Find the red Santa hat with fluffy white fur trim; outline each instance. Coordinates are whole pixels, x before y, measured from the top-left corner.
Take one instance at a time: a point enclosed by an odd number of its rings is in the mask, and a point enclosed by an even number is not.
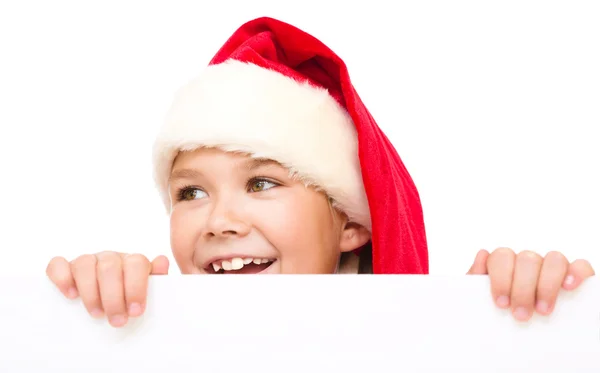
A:
[[[250,21],[178,92],[153,155],[167,210],[173,160],[199,147],[273,159],[319,186],[371,232],[373,273],[428,273],[413,180],[344,62],[313,36],[272,18]]]

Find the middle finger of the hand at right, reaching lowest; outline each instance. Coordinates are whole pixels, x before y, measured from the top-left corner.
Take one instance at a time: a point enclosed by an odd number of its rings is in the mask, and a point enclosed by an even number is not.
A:
[[[532,251],[523,251],[517,255],[510,299],[517,320],[527,321],[533,314],[543,261],[539,254]]]

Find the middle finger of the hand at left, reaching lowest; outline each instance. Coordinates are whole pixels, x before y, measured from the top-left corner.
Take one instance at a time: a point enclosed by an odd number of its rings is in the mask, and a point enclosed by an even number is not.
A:
[[[117,253],[97,254],[98,286],[102,307],[109,323],[121,327],[127,323],[127,306],[123,284],[123,261]]]

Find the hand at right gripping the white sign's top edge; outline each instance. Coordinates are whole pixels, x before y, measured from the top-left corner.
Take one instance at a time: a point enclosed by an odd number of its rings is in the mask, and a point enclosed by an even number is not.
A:
[[[498,307],[511,308],[517,320],[527,321],[534,311],[551,314],[561,287],[573,290],[595,273],[587,260],[569,263],[556,251],[542,257],[532,251],[516,254],[499,248],[492,253],[479,251],[467,274],[489,275]]]

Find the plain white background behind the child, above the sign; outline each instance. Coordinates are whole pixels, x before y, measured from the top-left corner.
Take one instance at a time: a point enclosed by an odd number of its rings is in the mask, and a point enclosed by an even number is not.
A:
[[[420,190],[432,274],[497,246],[600,266],[596,1],[6,1],[0,272],[169,254],[155,132],[176,89],[263,15],[347,62]]]

